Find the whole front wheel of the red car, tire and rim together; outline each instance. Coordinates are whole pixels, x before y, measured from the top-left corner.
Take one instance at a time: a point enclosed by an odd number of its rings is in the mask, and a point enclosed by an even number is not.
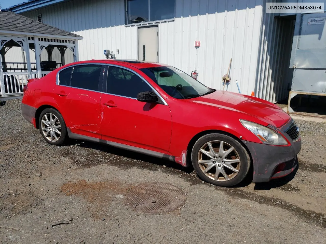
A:
[[[242,182],[250,168],[249,154],[241,143],[219,133],[200,137],[192,148],[191,161],[200,179],[225,187]]]

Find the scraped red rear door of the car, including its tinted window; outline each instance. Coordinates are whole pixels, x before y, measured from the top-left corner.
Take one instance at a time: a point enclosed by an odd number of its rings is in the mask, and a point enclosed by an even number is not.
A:
[[[67,127],[73,133],[101,137],[100,99],[104,65],[82,64],[58,74],[54,99]]]

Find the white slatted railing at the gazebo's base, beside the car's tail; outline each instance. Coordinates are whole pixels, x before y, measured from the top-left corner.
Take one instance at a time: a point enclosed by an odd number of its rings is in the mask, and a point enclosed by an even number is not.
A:
[[[3,73],[4,88],[2,95],[23,94],[23,88],[27,85],[28,72],[6,72]]]

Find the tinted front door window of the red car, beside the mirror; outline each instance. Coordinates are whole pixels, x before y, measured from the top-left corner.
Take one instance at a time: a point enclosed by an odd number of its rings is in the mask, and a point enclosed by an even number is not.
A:
[[[109,67],[107,93],[137,98],[137,94],[143,91],[152,91],[152,88],[141,77],[123,68]]]

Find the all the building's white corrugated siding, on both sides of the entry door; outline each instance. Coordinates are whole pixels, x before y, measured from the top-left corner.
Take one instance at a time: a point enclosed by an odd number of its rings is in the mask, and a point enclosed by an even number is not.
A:
[[[159,61],[188,74],[197,69],[201,82],[222,89],[221,79],[232,57],[232,81],[227,89],[238,92],[238,80],[242,93],[251,94],[256,87],[256,96],[274,102],[275,90],[283,89],[277,81],[284,77],[284,69],[274,74],[281,60],[271,56],[274,49],[269,44],[277,43],[275,52],[280,53],[284,42],[278,42],[275,34],[287,27],[275,28],[279,24],[263,15],[265,2],[176,0],[175,20],[158,23]],[[124,0],[74,0],[24,15],[36,19],[39,13],[43,22],[84,37],[78,42],[79,60],[103,59],[103,49],[114,51],[116,58],[138,58],[137,26],[124,25]],[[196,40],[200,41],[197,49]]]

